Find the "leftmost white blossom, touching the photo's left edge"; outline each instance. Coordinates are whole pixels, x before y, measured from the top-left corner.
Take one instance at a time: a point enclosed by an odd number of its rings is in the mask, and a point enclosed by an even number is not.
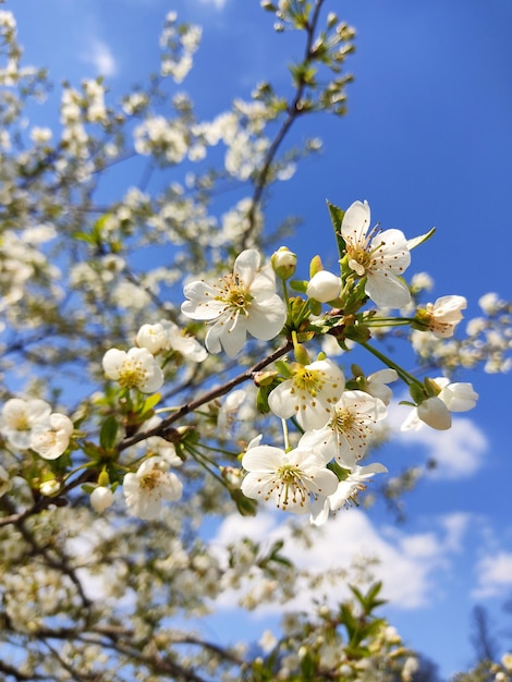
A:
[[[27,450],[31,448],[32,429],[39,423],[46,423],[51,407],[44,400],[22,400],[11,398],[2,407],[0,431],[11,446]]]

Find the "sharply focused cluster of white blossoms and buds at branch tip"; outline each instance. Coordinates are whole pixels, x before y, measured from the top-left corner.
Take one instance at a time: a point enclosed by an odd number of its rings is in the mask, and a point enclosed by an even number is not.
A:
[[[411,292],[403,272],[411,263],[411,248],[430,234],[406,240],[399,230],[370,228],[370,210],[366,202],[355,202],[343,214],[330,207],[334,227],[340,226],[340,271],[325,270],[321,260],[312,260],[310,279],[291,282],[305,299],[283,302],[276,293],[276,276],[283,284],[295,272],[295,254],[281,247],[269,266],[260,268],[255,249],[243,252],[235,260],[233,275],[224,276],[215,285],[194,281],[185,285],[187,301],[182,312],[187,317],[211,326],[206,348],[231,357],[242,350],[246,334],[270,340],[283,331],[292,343],[295,362],[279,363],[279,372],[269,376],[266,389],[268,409],[283,425],[291,421],[298,430],[298,442],[290,446],[284,428],[284,449],[249,443],[242,458],[246,472],[241,490],[247,498],[272,500],[282,510],[309,513],[315,525],[324,523],[329,511],[354,502],[374,474],[386,472],[383,464],[362,465],[369,446],[387,417],[392,393],[389,382],[402,379],[413,398],[413,407],[403,429],[427,424],[446,429],[451,413],[471,410],[477,394],[470,383],[450,383],[446,378],[426,378],[423,382],[368,343],[371,329],[386,324],[409,324],[412,328],[446,339],[454,333],[466,307],[462,296],[443,296],[434,304],[418,308],[414,317],[380,317],[367,310],[368,299],[380,307],[403,308]],[[341,218],[341,219],[340,219]],[[331,313],[321,315],[328,304]],[[284,326],[285,324],[285,326]],[[284,326],[284,327],[283,327]],[[321,354],[312,362],[300,333],[309,339],[326,332],[340,345],[359,343],[388,365],[365,376],[357,368],[346,379],[343,370]],[[261,380],[261,378],[258,378]]]

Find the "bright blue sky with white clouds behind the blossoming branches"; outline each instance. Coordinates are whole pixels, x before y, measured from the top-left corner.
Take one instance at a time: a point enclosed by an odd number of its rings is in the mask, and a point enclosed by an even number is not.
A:
[[[16,15],[26,61],[49,68],[56,94],[62,80],[77,85],[100,72],[113,94],[143,80],[157,69],[158,35],[170,10],[204,26],[196,68],[182,87],[205,118],[234,96],[248,97],[263,78],[288,88],[285,64],[300,54],[294,36],[273,34],[257,0],[8,0],[4,7]],[[488,291],[512,299],[510,0],[332,0],[328,8],[358,34],[349,115],[298,124],[296,142],[319,135],[325,148],[292,182],[272,190],[270,223],[302,216],[288,244],[305,259],[319,253],[328,261],[326,198],[340,206],[366,198],[383,228],[415,236],[436,226],[410,269],[434,277],[434,297],[466,296],[467,317],[478,314],[477,300]],[[45,110],[34,124],[57,120]],[[422,431],[379,458],[391,471],[429,454],[441,461],[407,499],[406,523],[395,526],[381,509],[339,514],[317,553],[298,559],[343,563],[365,537],[382,557],[392,622],[444,674],[471,660],[474,604],[489,607],[498,623],[512,594],[510,376],[460,378],[480,394],[472,413],[448,434]],[[285,533],[272,517],[258,519],[247,522],[255,537]],[[227,520],[216,540],[232,523]]]

